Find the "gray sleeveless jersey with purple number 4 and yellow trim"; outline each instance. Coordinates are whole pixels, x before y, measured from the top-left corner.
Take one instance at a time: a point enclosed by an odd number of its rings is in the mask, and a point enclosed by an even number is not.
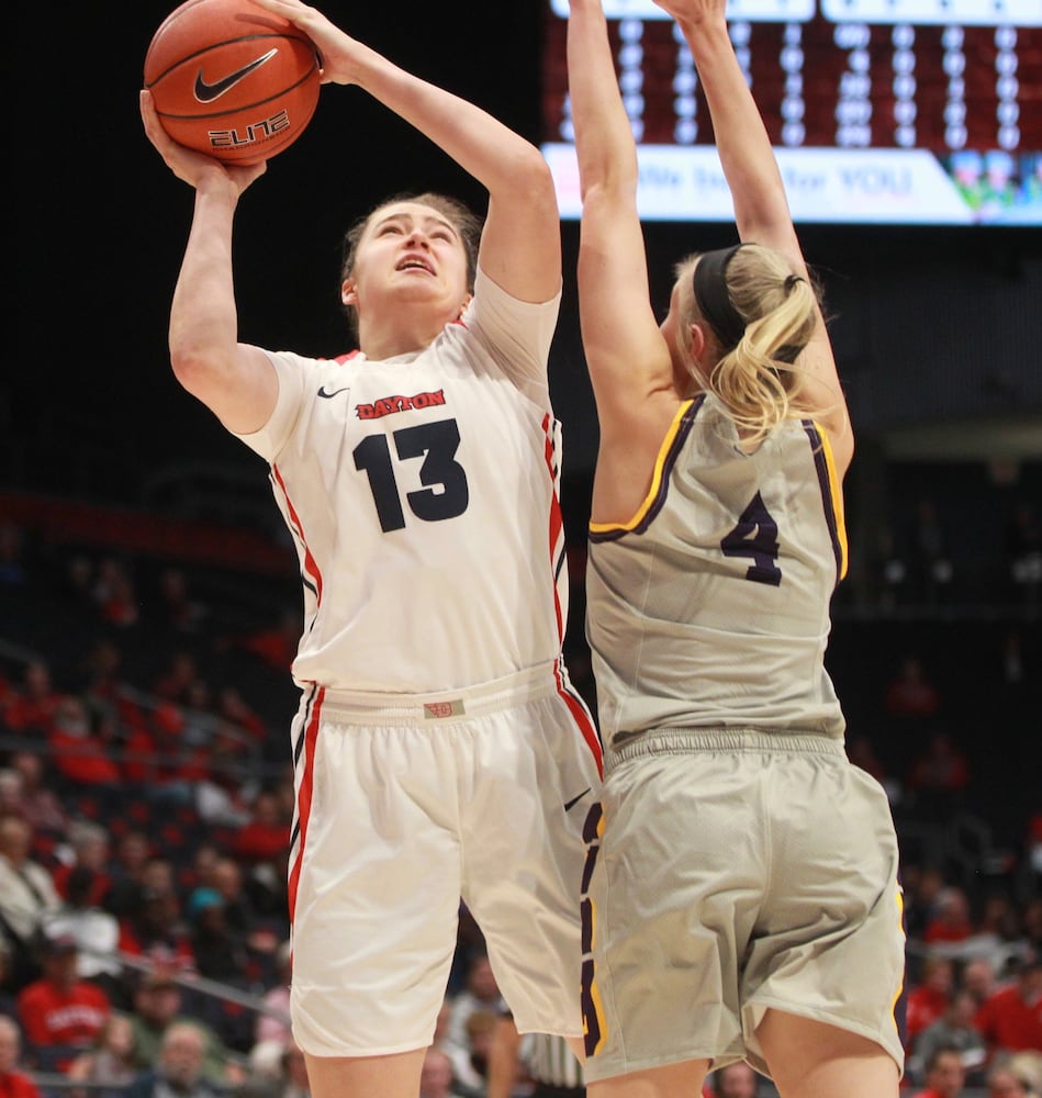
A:
[[[719,401],[683,404],[637,515],[590,526],[586,630],[606,753],[660,728],[842,739],[825,650],[845,567],[825,432],[794,419],[750,455]]]

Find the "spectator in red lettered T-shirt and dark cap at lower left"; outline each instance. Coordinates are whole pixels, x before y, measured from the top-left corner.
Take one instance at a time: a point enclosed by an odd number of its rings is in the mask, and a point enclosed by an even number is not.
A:
[[[112,1012],[108,995],[77,975],[78,954],[76,939],[69,934],[45,939],[43,978],[18,997],[26,1042],[42,1064],[59,1072],[77,1050],[93,1044]]]

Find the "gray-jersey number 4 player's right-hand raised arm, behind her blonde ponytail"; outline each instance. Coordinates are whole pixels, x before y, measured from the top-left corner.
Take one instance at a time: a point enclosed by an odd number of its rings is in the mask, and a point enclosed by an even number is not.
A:
[[[725,0],[656,3],[676,20],[691,48],[735,203],[739,236],[743,242],[774,248],[795,273],[808,278],[771,139],[728,35]],[[804,396],[818,410],[839,468],[845,471],[853,456],[853,435],[820,310],[799,368],[808,376]]]

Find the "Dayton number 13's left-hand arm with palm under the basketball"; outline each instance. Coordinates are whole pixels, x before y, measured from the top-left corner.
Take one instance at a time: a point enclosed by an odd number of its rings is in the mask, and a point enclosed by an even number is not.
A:
[[[243,191],[264,164],[225,167],[178,145],[163,130],[147,91],[141,93],[145,133],[170,170],[195,189],[195,211],[170,309],[170,361],[180,383],[226,427],[262,427],[278,381],[262,351],[238,343],[232,278],[232,222]]]

